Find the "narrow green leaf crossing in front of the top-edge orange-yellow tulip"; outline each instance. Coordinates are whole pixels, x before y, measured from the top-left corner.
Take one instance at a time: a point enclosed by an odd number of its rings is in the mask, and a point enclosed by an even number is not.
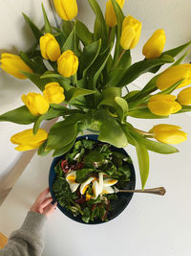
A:
[[[112,0],[112,4],[114,6],[114,10],[115,10],[116,16],[117,16],[117,43],[116,43],[116,50],[115,50],[115,56],[114,56],[114,65],[115,65],[117,62],[119,53],[122,50],[122,48],[120,46],[120,35],[121,35],[121,31],[122,31],[122,22],[123,22],[123,19],[125,18],[125,16],[124,16],[121,8],[117,4],[116,0]]]

